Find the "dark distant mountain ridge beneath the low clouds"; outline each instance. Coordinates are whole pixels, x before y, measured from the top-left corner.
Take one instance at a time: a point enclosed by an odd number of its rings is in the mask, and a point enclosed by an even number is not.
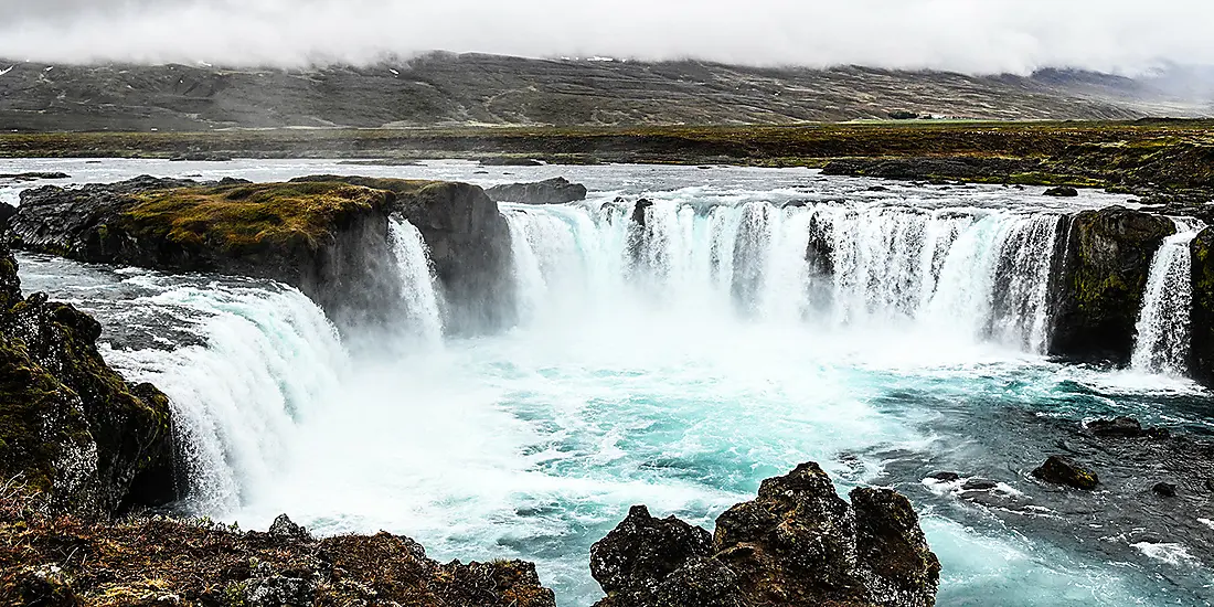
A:
[[[7,70],[7,72],[5,72]],[[432,53],[304,70],[0,61],[0,130],[721,125],[1198,117],[1147,80]]]

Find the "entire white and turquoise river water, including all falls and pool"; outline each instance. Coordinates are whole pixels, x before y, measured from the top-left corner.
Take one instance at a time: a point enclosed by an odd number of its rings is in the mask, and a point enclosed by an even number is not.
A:
[[[1133,369],[1043,356],[1061,217],[1124,199],[873,192],[809,170],[10,165],[75,181],[565,175],[591,188],[582,204],[501,205],[521,318],[497,335],[442,336],[425,244],[395,221],[408,330],[376,336],[401,341],[379,356],[347,351],[314,305],[272,283],[21,256],[27,289],[96,313],[107,359],[172,398],[185,511],[387,529],[437,558],[518,556],[561,605],[588,606],[589,548],[630,505],[711,528],[761,480],[815,460],[841,489],[910,497],[944,567],[938,605],[1208,605],[1214,563],[1168,557],[1186,538],[1087,541],[1042,522],[1085,512],[1015,499],[1053,448],[1040,420],[1131,414],[1214,433],[1209,396],[1169,367],[1187,331],[1174,287],[1190,229],[1156,259]],[[643,228],[613,202],[641,195],[654,202]],[[1008,500],[959,500],[926,480],[941,470],[999,481]]]

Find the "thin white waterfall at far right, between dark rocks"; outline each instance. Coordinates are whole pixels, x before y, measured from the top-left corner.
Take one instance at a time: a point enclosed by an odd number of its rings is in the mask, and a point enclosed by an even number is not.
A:
[[[1195,220],[1173,220],[1176,234],[1168,237],[1151,262],[1138,337],[1130,364],[1147,373],[1184,375],[1189,369],[1192,257],[1190,244],[1202,228]]]

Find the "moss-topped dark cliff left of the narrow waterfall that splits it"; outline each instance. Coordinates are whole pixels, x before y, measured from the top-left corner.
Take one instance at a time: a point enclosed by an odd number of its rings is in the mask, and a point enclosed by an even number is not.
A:
[[[339,327],[385,308],[398,288],[390,193],[346,183],[138,177],[22,194],[8,238],[87,262],[270,278],[296,287]]]

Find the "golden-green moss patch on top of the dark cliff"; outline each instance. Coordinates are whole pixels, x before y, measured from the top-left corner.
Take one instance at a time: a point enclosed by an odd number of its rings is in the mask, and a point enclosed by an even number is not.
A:
[[[384,192],[348,183],[259,183],[137,195],[123,215],[131,233],[186,248],[239,254],[260,246],[316,249],[335,225],[384,204]]]

